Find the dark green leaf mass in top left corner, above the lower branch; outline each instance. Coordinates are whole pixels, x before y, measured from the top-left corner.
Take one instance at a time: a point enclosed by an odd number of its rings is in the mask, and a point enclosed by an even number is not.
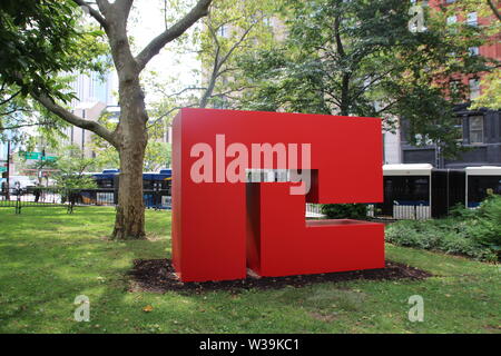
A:
[[[79,26],[81,11],[72,1],[2,0],[0,6],[0,79],[21,95],[73,98],[57,80],[60,71],[102,68],[96,56],[106,46],[104,32]]]

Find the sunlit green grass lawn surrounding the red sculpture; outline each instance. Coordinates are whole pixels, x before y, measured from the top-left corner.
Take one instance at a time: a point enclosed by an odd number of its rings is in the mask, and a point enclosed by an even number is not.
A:
[[[128,293],[135,258],[170,257],[170,214],[147,211],[148,240],[106,240],[114,209],[0,209],[0,333],[501,333],[499,266],[389,245],[422,281],[183,295]],[[73,320],[78,295],[90,322]],[[407,319],[424,298],[424,322]],[[151,305],[153,312],[145,313]]]

